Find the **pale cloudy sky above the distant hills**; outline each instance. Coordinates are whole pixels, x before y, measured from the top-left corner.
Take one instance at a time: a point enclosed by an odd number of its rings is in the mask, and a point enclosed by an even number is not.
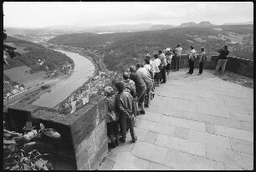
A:
[[[115,24],[253,21],[252,2],[4,2],[3,26],[45,28]]]

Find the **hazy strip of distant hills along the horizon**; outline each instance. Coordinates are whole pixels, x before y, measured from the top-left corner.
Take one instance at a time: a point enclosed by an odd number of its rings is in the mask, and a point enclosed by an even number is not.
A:
[[[253,21],[247,23],[225,23],[223,25],[214,25],[209,21],[203,21],[201,23],[182,23],[179,26],[173,26],[171,24],[119,24],[112,26],[98,26],[98,27],[74,27],[74,26],[55,26],[47,28],[10,28],[4,27],[8,34],[39,34],[39,33],[121,33],[121,32],[138,32],[138,31],[155,31],[155,30],[167,30],[171,28],[188,28],[188,27],[212,27],[212,26],[224,26],[224,25],[248,25],[253,24]]]

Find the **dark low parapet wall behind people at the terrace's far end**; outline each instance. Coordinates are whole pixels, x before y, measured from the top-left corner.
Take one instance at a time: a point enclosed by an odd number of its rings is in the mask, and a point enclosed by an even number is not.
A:
[[[212,55],[211,58],[208,58],[204,63],[203,68],[215,69],[218,63],[218,56]],[[198,60],[194,63],[195,68],[199,68]],[[173,63],[172,63],[173,68]],[[180,68],[189,68],[188,65],[188,54],[182,54],[180,60]],[[253,60],[248,60],[244,58],[234,58],[228,57],[228,62],[226,64],[226,70],[238,73],[246,77],[253,78]]]

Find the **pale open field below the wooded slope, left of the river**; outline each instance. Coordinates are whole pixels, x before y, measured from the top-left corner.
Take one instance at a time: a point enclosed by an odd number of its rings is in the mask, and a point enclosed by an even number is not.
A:
[[[37,84],[42,83],[44,79],[45,72],[38,72],[29,74],[26,71],[29,71],[31,68],[26,66],[20,66],[15,68],[9,68],[4,70],[3,73],[6,74],[12,81],[15,81],[20,84],[24,84],[25,88],[34,87]]]

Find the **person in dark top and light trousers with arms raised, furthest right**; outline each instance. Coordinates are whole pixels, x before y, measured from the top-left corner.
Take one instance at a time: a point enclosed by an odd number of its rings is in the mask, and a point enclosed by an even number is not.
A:
[[[218,50],[218,53],[219,53],[219,55],[218,55],[218,64],[215,68],[214,73],[212,73],[212,74],[215,74],[215,75],[218,72],[218,69],[220,67],[222,67],[222,70],[221,70],[220,74],[223,74],[224,71],[225,71],[226,63],[228,62],[228,57],[227,57],[228,53],[229,53],[228,45],[224,45],[223,48],[220,48]]]

